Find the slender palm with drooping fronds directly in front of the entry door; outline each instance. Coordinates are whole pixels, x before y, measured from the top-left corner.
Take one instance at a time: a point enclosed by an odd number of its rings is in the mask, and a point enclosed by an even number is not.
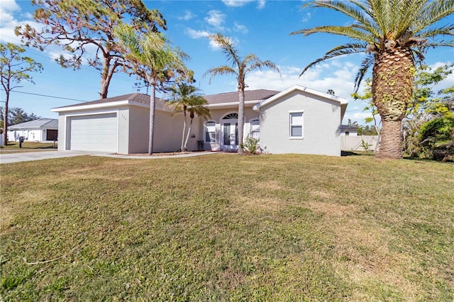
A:
[[[231,38],[224,37],[220,33],[216,33],[214,35],[210,35],[209,38],[214,40],[221,47],[222,52],[226,55],[227,61],[231,62],[232,66],[223,65],[221,67],[215,67],[209,69],[205,72],[206,74],[211,74],[211,78],[216,75],[223,75],[223,74],[234,74],[236,76],[238,82],[238,97],[239,97],[239,104],[238,104],[238,142],[243,142],[243,127],[244,127],[244,89],[246,86],[245,84],[245,77],[248,72],[252,72],[253,70],[262,70],[262,68],[270,68],[274,69],[279,72],[279,69],[275,65],[275,63],[266,60],[260,60],[256,55],[249,54],[246,55],[244,58],[238,55],[238,50],[233,45],[233,41]],[[280,74],[280,72],[279,72]],[[241,145],[238,145],[238,154],[243,154],[243,148]]]

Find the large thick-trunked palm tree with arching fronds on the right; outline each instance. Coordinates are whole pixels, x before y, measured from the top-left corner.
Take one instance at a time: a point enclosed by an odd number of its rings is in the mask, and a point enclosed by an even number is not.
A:
[[[355,78],[355,91],[372,67],[372,101],[382,117],[382,142],[377,158],[402,158],[402,118],[413,99],[415,64],[423,60],[428,47],[454,46],[452,40],[439,40],[453,35],[454,25],[436,26],[454,13],[453,0],[348,0],[311,1],[303,7],[328,8],[353,18],[349,26],[317,26],[298,30],[292,35],[332,33],[353,39],[334,47],[310,67],[341,55],[365,52]],[[301,76],[300,74],[300,76]]]

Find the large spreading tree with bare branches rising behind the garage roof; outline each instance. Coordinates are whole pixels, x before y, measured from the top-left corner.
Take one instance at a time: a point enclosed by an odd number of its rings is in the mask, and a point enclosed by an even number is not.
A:
[[[149,10],[141,0],[32,0],[37,6],[33,18],[42,29],[28,24],[18,26],[16,35],[26,45],[44,50],[59,45],[69,56],[56,59],[62,67],[80,69],[83,63],[101,72],[99,98],[105,99],[115,72],[131,72],[125,60],[126,51],[118,43],[114,29],[123,22],[143,35],[167,29],[165,19],[157,10]],[[94,57],[89,50],[95,49]],[[85,60],[85,61],[84,61]]]

